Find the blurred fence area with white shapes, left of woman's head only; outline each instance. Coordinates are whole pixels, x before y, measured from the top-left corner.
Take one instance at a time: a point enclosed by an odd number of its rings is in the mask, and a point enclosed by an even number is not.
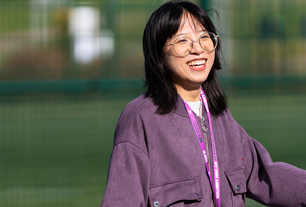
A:
[[[160,1],[0,1],[0,78],[141,75],[141,33]]]

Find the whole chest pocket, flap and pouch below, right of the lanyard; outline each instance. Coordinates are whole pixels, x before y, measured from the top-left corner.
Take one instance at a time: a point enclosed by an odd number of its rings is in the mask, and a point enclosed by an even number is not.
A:
[[[232,188],[232,206],[244,206],[246,193],[246,178],[244,166],[225,171],[225,176]]]

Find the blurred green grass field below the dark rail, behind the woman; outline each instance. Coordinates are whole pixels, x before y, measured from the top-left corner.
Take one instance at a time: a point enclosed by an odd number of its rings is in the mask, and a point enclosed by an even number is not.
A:
[[[99,206],[115,124],[138,94],[2,97],[0,206]],[[230,95],[232,115],[272,159],[304,169],[305,106],[305,90]]]

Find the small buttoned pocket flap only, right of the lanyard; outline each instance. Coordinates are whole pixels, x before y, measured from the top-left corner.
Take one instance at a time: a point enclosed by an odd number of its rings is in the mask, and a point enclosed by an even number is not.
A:
[[[234,194],[242,194],[246,192],[246,179],[243,171],[244,166],[224,172]]]

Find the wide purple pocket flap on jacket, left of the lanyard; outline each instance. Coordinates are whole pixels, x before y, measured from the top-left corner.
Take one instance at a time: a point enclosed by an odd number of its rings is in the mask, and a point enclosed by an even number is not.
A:
[[[149,188],[149,203],[154,207],[166,207],[183,200],[200,203],[203,197],[200,177],[174,180]]]

